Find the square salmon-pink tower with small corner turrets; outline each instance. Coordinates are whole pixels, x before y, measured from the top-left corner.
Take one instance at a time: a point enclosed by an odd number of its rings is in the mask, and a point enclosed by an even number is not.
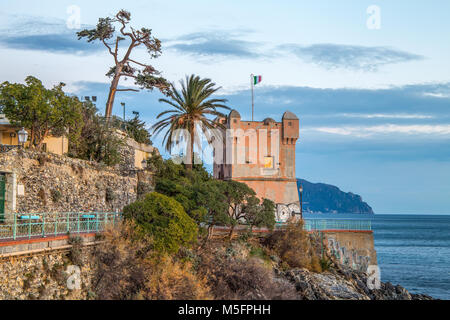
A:
[[[281,122],[242,120],[239,112],[216,119],[222,124],[222,143],[214,143],[214,177],[243,182],[259,198],[277,205],[277,220],[300,213],[295,174],[299,119],[284,113]]]

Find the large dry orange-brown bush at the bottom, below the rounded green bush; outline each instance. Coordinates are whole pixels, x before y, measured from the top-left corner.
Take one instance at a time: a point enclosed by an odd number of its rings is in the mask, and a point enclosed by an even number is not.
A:
[[[127,222],[104,233],[93,253],[94,296],[100,300],[204,300],[209,288],[189,263],[155,254],[153,241]]]

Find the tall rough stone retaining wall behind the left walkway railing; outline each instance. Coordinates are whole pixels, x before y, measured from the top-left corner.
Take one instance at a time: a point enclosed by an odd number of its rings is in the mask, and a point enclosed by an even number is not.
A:
[[[132,166],[124,161],[111,168],[28,150],[0,154],[6,217],[12,212],[121,211],[136,200],[139,184],[151,184],[151,174],[134,170],[134,157],[130,161]]]

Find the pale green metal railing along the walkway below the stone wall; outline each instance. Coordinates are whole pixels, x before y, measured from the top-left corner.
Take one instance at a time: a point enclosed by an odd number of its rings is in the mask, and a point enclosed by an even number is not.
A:
[[[0,241],[102,232],[122,219],[121,213],[16,213],[0,224]]]

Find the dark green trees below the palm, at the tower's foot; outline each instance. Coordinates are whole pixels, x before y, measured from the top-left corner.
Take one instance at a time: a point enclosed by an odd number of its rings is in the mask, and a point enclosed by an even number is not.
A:
[[[230,238],[240,221],[250,228],[275,225],[275,204],[260,201],[244,183],[215,180],[201,165],[190,170],[156,153],[149,159],[149,169],[154,172],[155,191],[177,200],[199,225],[206,223],[208,239],[215,225],[231,227]]]

